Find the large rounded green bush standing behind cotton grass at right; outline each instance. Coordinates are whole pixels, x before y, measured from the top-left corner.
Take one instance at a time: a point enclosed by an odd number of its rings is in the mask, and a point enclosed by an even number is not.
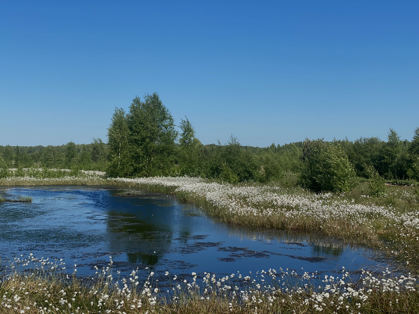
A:
[[[341,144],[306,139],[298,183],[316,192],[348,192],[357,185],[357,179]]]

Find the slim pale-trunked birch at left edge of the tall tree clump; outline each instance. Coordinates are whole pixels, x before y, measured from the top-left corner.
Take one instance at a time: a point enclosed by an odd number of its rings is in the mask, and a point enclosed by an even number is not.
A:
[[[131,174],[129,152],[129,129],[127,117],[122,108],[115,112],[108,128],[109,162],[106,172],[113,177],[125,177]]]

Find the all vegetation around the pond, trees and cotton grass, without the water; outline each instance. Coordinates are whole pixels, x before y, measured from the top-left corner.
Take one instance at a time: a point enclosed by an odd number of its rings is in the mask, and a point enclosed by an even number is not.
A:
[[[94,185],[166,193],[196,204],[218,223],[313,232],[378,250],[391,265],[382,272],[342,268],[332,278],[269,269],[257,278],[192,272],[176,281],[171,273],[171,283],[160,286],[151,270],[142,282],[135,269],[124,278],[110,273],[119,271],[114,261],[83,281],[75,270],[56,273],[56,260],[31,255],[4,266],[6,313],[419,311],[419,128],[411,141],[390,129],[386,142],[305,139],[259,148],[231,136],[226,144],[202,145],[187,118],[176,130],[153,94],[134,98],[128,113],[116,108],[106,144],[95,139],[87,145],[6,146],[0,153],[5,187]],[[17,265],[31,265],[31,271]]]

